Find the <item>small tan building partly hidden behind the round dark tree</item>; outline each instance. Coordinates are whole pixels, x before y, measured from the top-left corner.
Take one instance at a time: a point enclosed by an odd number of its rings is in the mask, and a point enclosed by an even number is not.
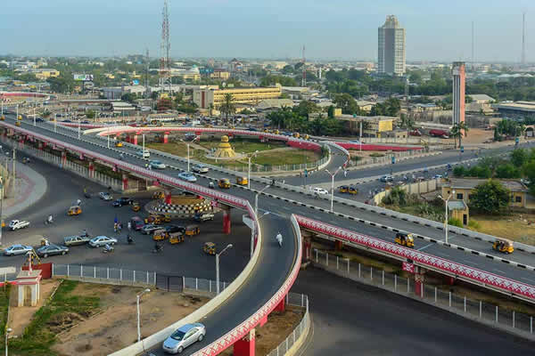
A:
[[[504,180],[498,181],[510,191],[510,206],[526,207],[528,189],[523,185],[522,182]],[[463,200],[466,204],[469,204],[475,187],[484,182],[487,182],[487,180],[452,178],[449,182],[446,182],[442,185],[442,197],[449,197],[449,194],[452,194],[452,192],[455,190],[455,195],[452,195],[452,199]]]

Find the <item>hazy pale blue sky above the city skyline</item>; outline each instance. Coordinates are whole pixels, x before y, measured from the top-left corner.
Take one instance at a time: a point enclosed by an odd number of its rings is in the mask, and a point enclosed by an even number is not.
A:
[[[0,4],[0,53],[160,56],[163,0]],[[174,57],[375,60],[387,14],[407,31],[407,60],[519,61],[522,12],[535,61],[535,0],[169,0]]]

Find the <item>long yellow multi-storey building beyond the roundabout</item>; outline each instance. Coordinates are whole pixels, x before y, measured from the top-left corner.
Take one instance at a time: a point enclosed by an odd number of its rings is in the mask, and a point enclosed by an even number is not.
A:
[[[193,102],[200,109],[218,109],[225,101],[225,95],[232,94],[235,105],[253,104],[267,99],[278,99],[281,96],[281,87],[268,88],[240,88],[240,89],[195,89]]]

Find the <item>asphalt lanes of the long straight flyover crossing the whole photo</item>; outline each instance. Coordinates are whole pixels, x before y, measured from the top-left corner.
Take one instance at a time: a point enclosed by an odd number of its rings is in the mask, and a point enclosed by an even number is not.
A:
[[[8,119],[6,118],[6,120]],[[48,136],[53,137],[54,136],[53,132],[49,131],[51,128],[50,125],[49,124],[42,124],[42,125],[46,125],[45,126],[46,129],[39,127],[39,126],[33,127],[33,125],[29,125],[28,122],[25,122],[25,124],[23,124],[23,127],[30,128],[30,129],[36,130],[37,132],[41,134],[46,134]],[[60,128],[58,127],[58,130],[59,129]],[[95,150],[102,154],[109,155],[114,158],[119,158],[119,151],[122,151],[122,152],[134,152],[135,151],[134,149],[131,149],[128,147],[124,147],[121,150],[108,150],[102,146],[96,146],[96,145],[88,144],[86,142],[80,142],[78,141],[77,137],[72,137],[76,135],[75,132],[73,132],[70,129],[65,129],[65,128],[63,128],[62,130],[64,130],[64,132],[68,134],[69,136],[56,134],[55,137],[58,137],[65,142],[77,144],[80,147],[86,147],[86,149],[88,150]],[[95,137],[88,136],[88,135],[84,136],[83,139],[88,140],[88,141],[99,142],[99,144],[101,145],[104,142]],[[160,159],[164,163],[172,164],[174,166],[180,166],[180,167],[185,166],[184,164],[179,163],[177,160],[174,160],[174,159],[161,158],[161,157],[159,157],[158,159]],[[125,157],[125,161],[132,163],[132,164],[136,164],[138,166],[144,166],[144,162],[145,162],[143,159],[137,158],[134,155],[127,155]],[[170,168],[163,170],[162,173],[166,173],[171,176],[177,176],[177,171],[170,169]],[[218,172],[212,171],[210,172],[209,176],[212,178],[218,178],[218,177],[228,176],[228,175],[220,174]],[[199,178],[198,183],[201,185],[207,186],[208,180],[204,177],[201,177]],[[253,182],[251,183],[251,188],[260,189],[260,188],[263,188],[263,185]],[[319,206],[325,209],[329,208],[329,201],[325,199],[312,198],[312,197],[305,196],[297,192],[281,190],[279,188],[269,188],[267,191],[270,194],[274,194],[278,197],[294,199],[296,201],[309,204],[310,206]],[[252,193],[249,190],[243,190],[243,189],[233,187],[229,192],[235,196],[247,198],[250,201],[253,201],[254,199],[254,193]],[[379,239],[385,239],[385,240],[391,241],[394,235],[393,232],[386,231],[385,229],[382,229],[380,227],[371,226],[366,223],[350,221],[349,219],[345,217],[321,212],[316,209],[312,209],[311,207],[308,207],[308,206],[300,206],[300,205],[296,205],[292,203],[283,203],[280,199],[269,198],[267,196],[262,196],[259,199],[259,206],[265,210],[274,212],[276,214],[281,214],[284,216],[288,216],[289,214],[292,214],[292,213],[302,214],[304,216],[309,216],[310,218],[316,219],[318,221],[331,223],[335,226],[343,226],[351,231],[358,231],[360,233],[363,233],[363,234],[366,234],[375,238],[379,238]],[[343,206],[341,204],[335,204],[334,210],[338,213],[355,216],[358,219],[363,219],[366,221],[373,221],[374,223],[383,223],[385,225],[388,225],[388,226],[391,226],[400,230],[416,232],[418,234],[427,236],[432,239],[443,239],[443,231],[440,231],[434,228],[425,227],[423,225],[419,225],[416,223],[410,223],[410,222],[406,222],[403,220],[394,219],[391,216],[375,214],[373,212],[368,212],[368,211],[361,210],[361,209],[357,210],[354,207]],[[449,241],[459,246],[485,252],[490,255],[503,256],[492,251],[490,248],[490,244],[487,242],[482,242],[482,241],[475,240],[472,238],[459,236],[455,233],[450,234]],[[442,258],[456,261],[457,263],[463,263],[471,267],[480,268],[485,271],[490,271],[492,273],[498,274],[503,277],[517,279],[524,283],[535,286],[535,274],[533,271],[527,271],[524,269],[516,268],[506,263],[499,263],[497,261],[493,261],[482,256],[471,255],[462,251],[458,251],[457,249],[454,249],[454,248],[443,247],[443,246],[432,244],[432,243],[426,243],[423,240],[416,240],[416,249],[423,250],[424,252],[431,254],[431,255],[437,255]],[[523,253],[521,251],[516,251],[513,255],[507,255],[506,258],[517,263],[523,263],[523,264],[528,264],[528,265],[535,264],[535,258],[531,254]]]

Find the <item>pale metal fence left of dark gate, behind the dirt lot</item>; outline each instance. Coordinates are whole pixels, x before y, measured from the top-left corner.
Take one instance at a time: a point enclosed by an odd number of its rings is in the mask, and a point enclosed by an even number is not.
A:
[[[156,285],[156,272],[130,271],[121,268],[86,266],[83,264],[52,265],[53,277],[82,279],[90,283],[109,283],[120,285]]]

